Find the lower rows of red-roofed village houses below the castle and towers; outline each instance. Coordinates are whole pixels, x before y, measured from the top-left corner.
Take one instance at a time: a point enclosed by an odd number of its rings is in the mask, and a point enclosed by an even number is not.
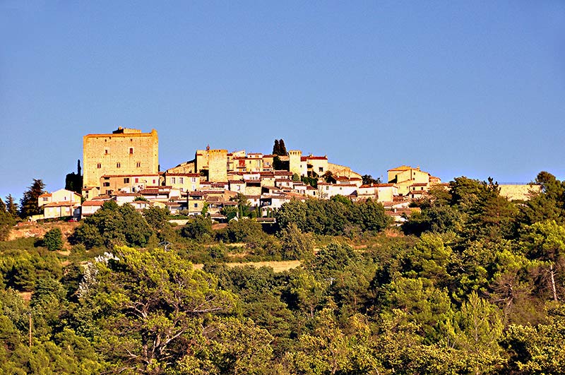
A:
[[[292,200],[329,199],[340,195],[352,201],[371,198],[400,218],[402,213],[408,212],[412,199],[421,198],[432,184],[439,183],[418,168],[404,166],[391,169],[389,177],[391,173],[395,181],[386,184],[362,184],[362,177],[337,176],[331,178],[332,182],[320,177],[316,187],[285,170],[232,172],[228,181],[218,182],[206,181],[197,173],[103,174],[100,186],[105,194],[97,194],[99,189],[89,187],[83,189],[83,196],[60,189],[40,196],[38,205],[44,209],[41,219],[72,217],[80,220],[112,199],[119,205],[131,204],[140,211],[160,207],[167,208],[172,215],[206,212],[213,220],[222,222],[226,220],[222,208],[237,206],[239,194],[247,198],[261,217],[270,217],[274,210]],[[404,179],[407,176],[410,178]]]

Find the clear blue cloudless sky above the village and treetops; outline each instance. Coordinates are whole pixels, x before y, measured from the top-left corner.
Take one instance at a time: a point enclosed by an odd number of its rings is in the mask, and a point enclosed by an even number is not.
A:
[[[565,178],[565,1],[0,0],[0,196],[82,137],[328,155],[386,177]]]

